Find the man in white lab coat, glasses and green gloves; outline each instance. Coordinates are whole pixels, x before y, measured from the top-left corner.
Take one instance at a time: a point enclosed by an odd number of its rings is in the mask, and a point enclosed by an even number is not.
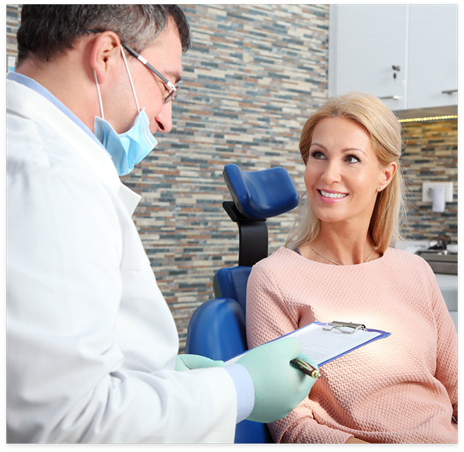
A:
[[[7,441],[233,441],[314,379],[286,339],[223,367],[178,336],[119,177],[169,133],[176,5],[24,5],[7,75]],[[142,56],[141,56],[142,55]],[[314,364],[314,362],[313,362]],[[185,370],[185,372],[180,372]]]

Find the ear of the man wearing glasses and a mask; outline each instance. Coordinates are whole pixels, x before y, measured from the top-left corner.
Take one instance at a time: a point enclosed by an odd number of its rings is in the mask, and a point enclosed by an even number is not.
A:
[[[119,62],[121,58],[121,41],[115,32],[102,32],[94,40],[90,51],[90,66],[97,73],[100,84],[106,81],[111,66]]]

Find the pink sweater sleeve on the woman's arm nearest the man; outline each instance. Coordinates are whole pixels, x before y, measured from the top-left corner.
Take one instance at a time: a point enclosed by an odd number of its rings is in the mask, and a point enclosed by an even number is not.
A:
[[[246,329],[248,347],[253,348],[298,329],[298,312],[285,303],[273,277],[262,265],[253,267],[247,286]],[[316,384],[318,384],[317,382]],[[318,424],[309,398],[287,417],[268,424],[277,443],[345,443],[352,434]]]

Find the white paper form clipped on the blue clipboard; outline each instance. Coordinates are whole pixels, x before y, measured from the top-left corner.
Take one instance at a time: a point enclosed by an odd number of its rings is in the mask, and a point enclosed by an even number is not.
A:
[[[375,329],[360,329],[353,334],[341,333],[336,329],[324,331],[322,329],[324,325],[325,324],[321,322],[312,322],[312,324],[303,326],[296,331],[274,340],[280,341],[287,337],[297,338],[301,344],[301,351],[314,359],[320,367],[356,348],[365,346],[367,343],[390,336],[390,333],[386,331]],[[238,355],[228,360],[226,364],[236,362],[240,356],[241,355]]]

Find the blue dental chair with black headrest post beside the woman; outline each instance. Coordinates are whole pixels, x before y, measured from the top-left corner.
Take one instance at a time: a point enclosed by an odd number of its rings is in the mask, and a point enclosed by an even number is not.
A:
[[[238,266],[219,269],[214,276],[214,298],[193,313],[185,353],[228,360],[248,350],[245,332],[246,287],[252,265],[267,257],[266,219],[288,212],[300,196],[290,175],[281,167],[243,171],[224,167],[224,179],[233,201],[222,205],[238,224]],[[243,420],[236,426],[236,443],[272,443],[266,424]]]

